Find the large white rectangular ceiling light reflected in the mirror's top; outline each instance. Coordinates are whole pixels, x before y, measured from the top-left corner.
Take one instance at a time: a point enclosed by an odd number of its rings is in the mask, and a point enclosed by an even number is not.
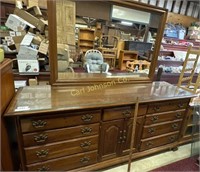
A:
[[[113,5],[112,18],[149,24],[151,14],[144,11]]]

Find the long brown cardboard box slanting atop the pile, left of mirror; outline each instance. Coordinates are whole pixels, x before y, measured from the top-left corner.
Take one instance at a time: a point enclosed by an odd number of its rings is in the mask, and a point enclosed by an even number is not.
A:
[[[21,17],[22,19],[26,20],[27,22],[31,23],[33,26],[35,26],[41,33],[44,32],[45,26],[48,25],[47,21],[44,21],[42,19],[38,19],[28,13],[27,11],[20,10],[18,8],[15,8],[14,14]]]

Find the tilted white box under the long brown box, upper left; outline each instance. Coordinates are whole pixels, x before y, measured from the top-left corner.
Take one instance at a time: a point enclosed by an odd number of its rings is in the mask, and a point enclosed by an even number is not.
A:
[[[10,28],[13,31],[20,31],[20,30],[25,30],[27,27],[35,28],[34,25],[31,23],[28,23],[21,17],[15,15],[15,14],[10,14],[5,25]]]

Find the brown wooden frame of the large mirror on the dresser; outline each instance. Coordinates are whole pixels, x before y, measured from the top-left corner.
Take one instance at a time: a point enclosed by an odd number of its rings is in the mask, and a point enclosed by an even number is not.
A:
[[[76,2],[76,0],[74,0]],[[160,51],[160,45],[163,37],[163,32],[165,28],[165,23],[167,19],[168,10],[164,8],[159,8],[156,6],[135,2],[131,0],[108,0],[106,3],[111,3],[112,5],[123,6],[126,8],[133,8],[137,10],[142,10],[145,12],[156,13],[160,16],[160,22],[158,26],[156,41],[154,45],[154,51],[152,54],[151,67],[149,70],[149,75],[147,78],[132,78],[130,77],[128,83],[146,83],[152,82],[154,78],[154,72],[157,66],[157,58]],[[56,1],[47,0],[47,10],[48,10],[48,27],[49,30],[49,65],[50,65],[50,84],[52,86],[74,86],[74,85],[89,85],[94,83],[109,82],[111,80],[117,80],[117,78],[100,78],[99,80],[92,78],[84,80],[59,80],[58,79],[58,65],[57,65],[57,23],[56,23]],[[127,82],[126,82],[127,83]]]

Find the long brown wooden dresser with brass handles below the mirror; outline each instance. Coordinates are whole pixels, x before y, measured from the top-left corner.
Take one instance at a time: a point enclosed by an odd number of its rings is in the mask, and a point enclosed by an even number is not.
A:
[[[22,170],[99,170],[127,162],[137,97],[133,159],[179,145],[193,96],[166,82],[32,86],[18,91],[5,118],[16,122]]]

